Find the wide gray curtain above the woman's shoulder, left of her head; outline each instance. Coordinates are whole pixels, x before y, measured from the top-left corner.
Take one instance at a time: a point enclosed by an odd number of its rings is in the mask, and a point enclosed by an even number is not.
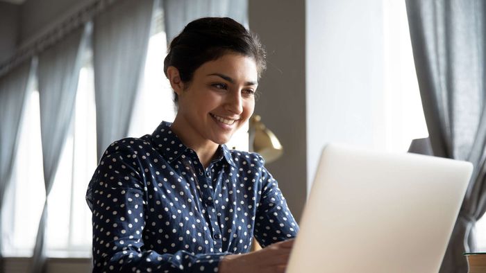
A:
[[[153,0],[126,0],[94,19],[98,159],[110,143],[128,135],[149,43],[152,10]]]

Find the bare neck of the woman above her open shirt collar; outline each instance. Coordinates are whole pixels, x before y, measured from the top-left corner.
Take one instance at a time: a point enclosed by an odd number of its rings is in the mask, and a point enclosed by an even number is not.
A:
[[[187,132],[189,130],[181,124],[183,123],[178,121],[176,117],[174,123],[171,125],[171,130],[181,139],[185,146],[196,152],[204,168],[208,167],[213,157],[215,157],[219,145],[209,139],[198,137],[199,134],[195,132]]]

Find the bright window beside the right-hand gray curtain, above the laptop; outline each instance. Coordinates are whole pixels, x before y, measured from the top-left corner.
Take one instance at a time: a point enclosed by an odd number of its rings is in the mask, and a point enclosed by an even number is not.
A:
[[[385,148],[406,152],[428,137],[404,1],[383,1]]]

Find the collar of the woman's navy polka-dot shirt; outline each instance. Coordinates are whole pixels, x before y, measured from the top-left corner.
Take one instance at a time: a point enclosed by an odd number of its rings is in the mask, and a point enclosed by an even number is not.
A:
[[[178,136],[171,130],[172,123],[162,121],[158,125],[157,129],[152,133],[153,143],[156,144],[156,148],[162,154],[162,156],[171,163],[183,155],[187,146],[178,138]],[[222,155],[221,155],[222,152]],[[219,157],[216,161],[225,159],[228,164],[236,168],[235,161],[231,157],[231,152],[226,145],[220,145],[218,148]]]

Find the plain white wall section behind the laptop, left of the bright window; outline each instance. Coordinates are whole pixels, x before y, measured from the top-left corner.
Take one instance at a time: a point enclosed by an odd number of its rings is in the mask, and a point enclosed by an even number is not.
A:
[[[383,143],[382,1],[307,0],[308,186],[326,143]]]

